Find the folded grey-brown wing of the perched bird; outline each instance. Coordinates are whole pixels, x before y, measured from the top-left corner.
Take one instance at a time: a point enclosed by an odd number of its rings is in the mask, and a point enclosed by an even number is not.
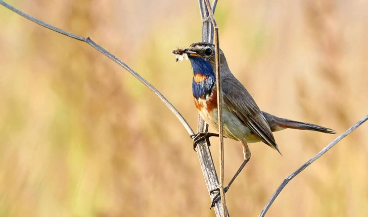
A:
[[[259,136],[264,143],[281,154],[266,119],[253,97],[240,81],[235,77],[224,78],[221,86],[223,100],[229,110],[240,122],[247,126],[254,134]]]

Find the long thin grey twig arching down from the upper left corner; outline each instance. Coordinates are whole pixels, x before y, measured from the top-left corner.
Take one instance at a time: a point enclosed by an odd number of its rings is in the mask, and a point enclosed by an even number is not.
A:
[[[117,63],[118,65],[120,65],[121,67],[123,67],[126,71],[128,71],[130,74],[132,74],[136,79],[138,79],[139,81],[141,81],[144,85],[146,85],[153,93],[155,93],[160,99],[161,101],[169,108],[169,110],[176,116],[176,118],[180,121],[180,123],[186,128],[187,132],[189,133],[189,135],[193,135],[194,131],[192,130],[191,126],[188,124],[188,122],[182,117],[182,115],[176,110],[176,108],[154,87],[152,86],[152,84],[150,84],[148,81],[146,81],[140,74],[136,73],[134,70],[132,70],[128,65],[126,65],[125,63],[123,63],[122,61],[120,61],[119,59],[117,59],[115,56],[113,56],[109,51],[105,50],[104,48],[102,48],[100,45],[98,45],[97,43],[95,43],[93,40],[91,40],[89,37],[81,37],[79,35],[75,35],[72,34],[70,32],[64,31],[62,29],[59,29],[55,26],[52,26],[48,23],[45,23],[43,21],[40,21],[32,16],[29,16],[28,14],[19,11],[18,9],[14,8],[13,6],[5,3],[4,1],[0,0],[0,5],[3,5],[5,8],[19,14],[20,16],[40,25],[43,27],[46,27],[48,29],[51,29],[55,32],[58,32],[60,34],[69,36],[71,38],[80,40],[80,41],[84,41],[87,44],[91,45],[92,47],[94,47],[95,49],[97,49],[98,51],[100,51],[103,55],[105,55],[106,57],[110,58],[111,60],[113,60],[115,63]]]

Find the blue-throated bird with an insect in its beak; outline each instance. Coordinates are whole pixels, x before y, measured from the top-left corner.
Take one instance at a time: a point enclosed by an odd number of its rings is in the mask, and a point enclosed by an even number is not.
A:
[[[217,92],[215,70],[215,46],[212,43],[193,43],[189,48],[175,49],[176,61],[189,59],[193,69],[192,90],[194,103],[207,124],[218,130]],[[225,187],[228,190],[250,159],[248,143],[264,142],[280,154],[272,132],[287,128],[312,130],[322,133],[336,133],[335,130],[314,124],[278,118],[262,112],[253,97],[229,70],[224,53],[220,49],[220,76],[222,88],[223,135],[240,141],[243,146],[244,161],[234,177]],[[213,133],[194,135],[194,147],[200,139],[218,136]],[[218,195],[217,195],[218,197]],[[216,197],[215,197],[216,198]]]

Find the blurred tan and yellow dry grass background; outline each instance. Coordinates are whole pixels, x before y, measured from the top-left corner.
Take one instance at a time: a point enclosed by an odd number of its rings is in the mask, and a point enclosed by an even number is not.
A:
[[[190,63],[170,52],[201,40],[197,1],[7,2],[90,36],[196,128]],[[230,67],[262,110],[342,133],[368,111],[367,10],[361,0],[238,0],[219,1],[215,16]],[[187,132],[126,71],[3,7],[0,48],[0,216],[214,216]],[[367,130],[294,179],[267,216],[366,216]],[[232,216],[258,216],[282,180],[335,136],[275,138],[284,157],[250,144],[252,160],[226,194]],[[225,139],[225,182],[242,157]]]

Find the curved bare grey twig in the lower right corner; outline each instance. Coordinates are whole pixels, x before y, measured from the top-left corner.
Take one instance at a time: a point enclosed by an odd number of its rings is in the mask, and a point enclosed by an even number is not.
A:
[[[316,155],[314,155],[310,160],[308,160],[303,166],[301,166],[299,169],[297,169],[294,173],[292,173],[290,176],[288,176],[281,185],[276,189],[276,191],[272,194],[271,198],[268,200],[264,208],[262,209],[261,213],[259,214],[259,217],[263,217],[268,208],[271,206],[273,201],[277,198],[277,196],[280,194],[280,192],[284,189],[284,187],[295,178],[300,172],[302,172],[305,168],[307,168],[312,162],[314,162],[316,159],[318,159],[321,155],[326,153],[328,150],[330,150],[334,145],[336,145],[338,142],[340,142],[345,136],[349,135],[353,130],[358,128],[360,125],[362,125],[366,120],[368,120],[368,115],[362,118],[360,121],[358,121],[356,124],[351,126],[348,130],[346,130],[343,134],[338,136],[334,141],[332,141],[330,144],[328,144],[324,149],[319,151]]]

